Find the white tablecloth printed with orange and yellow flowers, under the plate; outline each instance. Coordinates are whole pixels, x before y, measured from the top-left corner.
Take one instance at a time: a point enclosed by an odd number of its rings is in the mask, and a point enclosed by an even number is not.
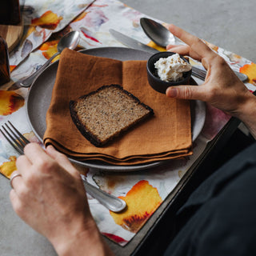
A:
[[[22,16],[25,25],[23,38],[10,54],[11,81],[0,88],[0,124],[10,120],[31,142],[40,143],[26,116],[26,97],[30,89],[22,88],[15,82],[34,73],[56,53],[58,40],[63,34],[70,30],[80,32],[77,50],[102,46],[124,47],[110,35],[110,28],[125,31],[128,36],[156,47],[139,25],[140,18],[147,16],[116,0],[26,0]],[[255,90],[256,64],[206,43],[225,58],[234,70],[247,74],[249,81],[246,86]],[[200,63],[191,62],[202,68]],[[197,82],[202,83],[200,80]],[[88,195],[90,210],[102,234],[121,246],[130,242],[229,118],[222,111],[206,106],[206,122],[194,142],[194,154],[150,170],[117,174],[79,166],[90,183],[123,198],[127,203],[125,211],[114,214]],[[17,157],[17,152],[0,134],[0,172],[6,178],[10,178],[15,170]]]

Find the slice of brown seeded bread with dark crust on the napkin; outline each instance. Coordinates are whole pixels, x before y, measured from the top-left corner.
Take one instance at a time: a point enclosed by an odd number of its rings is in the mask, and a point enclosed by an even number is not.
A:
[[[102,86],[70,101],[70,114],[81,134],[94,146],[103,146],[142,119],[154,114],[122,86]]]

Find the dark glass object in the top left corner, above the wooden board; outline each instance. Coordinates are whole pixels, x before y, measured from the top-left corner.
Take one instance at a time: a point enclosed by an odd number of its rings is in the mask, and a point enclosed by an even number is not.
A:
[[[0,0],[0,24],[17,25],[20,21],[19,0]]]

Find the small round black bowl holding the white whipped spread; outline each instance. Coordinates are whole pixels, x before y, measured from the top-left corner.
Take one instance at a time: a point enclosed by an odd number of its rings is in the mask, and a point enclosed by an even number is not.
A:
[[[157,62],[159,58],[167,58],[173,54],[175,53],[172,53],[170,51],[159,52],[157,54],[152,55],[149,58],[149,60],[146,62],[147,79],[150,83],[150,86],[154,90],[157,90],[159,93],[162,93],[162,94],[166,94],[166,89],[170,86],[186,85],[190,82],[192,70],[184,72],[183,79],[179,80],[178,82],[166,82],[166,81],[162,81],[158,77],[158,70],[155,69],[154,63]],[[182,56],[181,58],[184,61],[188,62],[186,58]]]

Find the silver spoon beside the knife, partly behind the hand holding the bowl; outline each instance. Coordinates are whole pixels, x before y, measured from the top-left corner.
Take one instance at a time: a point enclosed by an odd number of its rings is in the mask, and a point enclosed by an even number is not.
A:
[[[142,30],[145,32],[145,34],[158,46],[166,48],[166,46],[170,44],[185,44],[184,42],[182,42],[182,40],[176,38],[173,34],[171,34],[165,26],[162,26],[162,24],[155,22],[150,18],[141,18],[140,23],[142,26]],[[206,78],[206,72],[206,70],[201,70],[195,66],[192,66],[192,74],[197,78],[204,80]],[[237,71],[234,71],[234,74],[236,74],[242,82],[245,82],[248,79],[246,74],[242,74]]]

